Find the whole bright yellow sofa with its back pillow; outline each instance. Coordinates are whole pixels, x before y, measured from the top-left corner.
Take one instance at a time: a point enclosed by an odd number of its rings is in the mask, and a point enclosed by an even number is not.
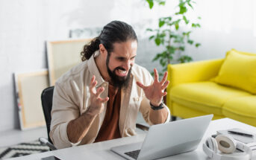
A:
[[[173,116],[213,114],[256,127],[256,54],[232,49],[223,60],[168,65],[168,80]]]

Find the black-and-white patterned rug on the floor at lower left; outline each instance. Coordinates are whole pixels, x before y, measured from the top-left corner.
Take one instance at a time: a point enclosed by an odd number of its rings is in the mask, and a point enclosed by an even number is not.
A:
[[[16,144],[10,147],[0,148],[0,159],[10,159],[13,157],[26,156],[34,153],[49,151],[49,147],[40,144],[40,141],[31,141]]]

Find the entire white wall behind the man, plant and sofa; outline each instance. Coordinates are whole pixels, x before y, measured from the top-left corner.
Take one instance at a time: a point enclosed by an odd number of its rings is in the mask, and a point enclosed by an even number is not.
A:
[[[145,30],[172,10],[174,0],[167,1],[163,9],[149,10],[144,0],[0,0],[0,132],[19,127],[13,73],[46,68],[46,40],[66,39],[69,29],[102,27],[114,19],[128,22],[139,37],[137,63],[152,71],[160,48],[148,42]],[[253,0],[198,0],[202,29],[193,37],[202,47],[186,53],[194,60],[224,57],[230,48],[256,53],[254,8]]]

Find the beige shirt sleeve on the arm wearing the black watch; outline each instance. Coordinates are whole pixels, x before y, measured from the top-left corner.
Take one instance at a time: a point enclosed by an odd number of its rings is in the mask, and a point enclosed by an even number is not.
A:
[[[153,80],[151,74],[149,73],[149,71],[144,71],[144,72],[146,74],[145,75],[146,78],[143,79],[143,84],[145,86],[149,86],[154,82],[154,80]],[[167,112],[168,112],[168,116],[167,116],[166,121],[165,121],[165,123],[168,123],[169,120],[170,120],[171,114],[169,112],[169,108],[165,104],[163,104],[163,106],[167,109]],[[143,118],[146,121],[146,123],[149,124],[150,126],[152,126],[153,123],[152,123],[152,121],[150,121],[150,118],[149,118],[150,109],[151,109],[151,106],[149,104],[149,99],[146,98],[146,96],[143,92],[143,100],[140,103],[140,112],[142,113]]]

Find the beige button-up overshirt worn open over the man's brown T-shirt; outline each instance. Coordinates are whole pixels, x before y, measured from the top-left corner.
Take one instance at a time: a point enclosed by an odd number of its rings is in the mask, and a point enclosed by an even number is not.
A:
[[[92,56],[90,60],[86,60],[76,65],[66,74],[63,74],[54,87],[53,104],[51,110],[51,132],[50,137],[54,146],[58,149],[71,147],[73,145],[90,144],[95,141],[99,129],[104,121],[104,111],[96,117],[90,127],[87,135],[78,142],[72,144],[67,136],[66,127],[69,121],[78,118],[90,106],[90,80],[96,76],[99,86],[104,86],[104,92],[101,97],[107,97],[108,83],[103,80]],[[145,121],[152,125],[149,120],[149,100],[145,97],[143,89],[137,86],[136,81],[140,81],[145,86],[152,84],[153,79],[149,71],[139,65],[134,64],[131,71],[131,80],[127,89],[121,92],[121,108],[119,118],[119,129],[122,137],[136,135],[135,124],[137,113],[140,111]],[[107,103],[104,104],[107,106]],[[166,109],[169,112],[168,107]],[[169,121],[170,113],[166,122]]]

